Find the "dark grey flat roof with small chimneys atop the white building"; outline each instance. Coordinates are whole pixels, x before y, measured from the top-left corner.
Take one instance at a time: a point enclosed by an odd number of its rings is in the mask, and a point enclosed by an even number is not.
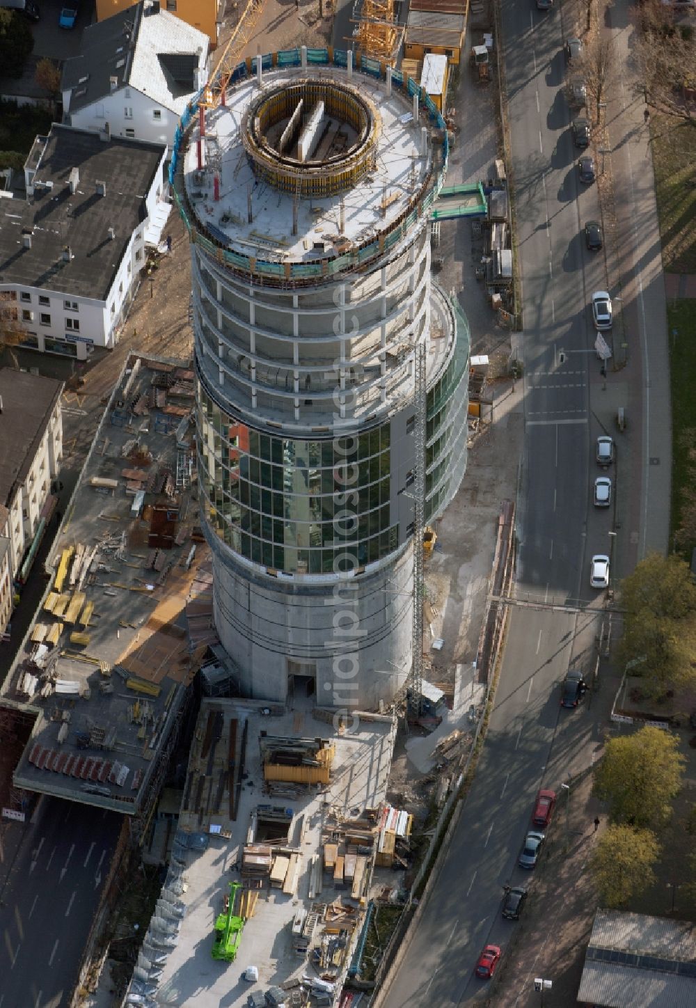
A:
[[[145,198],[161,178],[166,149],[144,140],[105,141],[53,123],[32,147],[34,195],[0,201],[0,284],[106,301],[133,232],[147,216]],[[29,248],[23,233],[31,235]]]

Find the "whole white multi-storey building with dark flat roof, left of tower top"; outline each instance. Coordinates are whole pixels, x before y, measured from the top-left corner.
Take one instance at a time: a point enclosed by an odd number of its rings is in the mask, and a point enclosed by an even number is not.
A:
[[[166,150],[55,123],[36,137],[27,198],[0,203],[0,296],[16,301],[20,346],[78,360],[115,346],[165,201]]]

